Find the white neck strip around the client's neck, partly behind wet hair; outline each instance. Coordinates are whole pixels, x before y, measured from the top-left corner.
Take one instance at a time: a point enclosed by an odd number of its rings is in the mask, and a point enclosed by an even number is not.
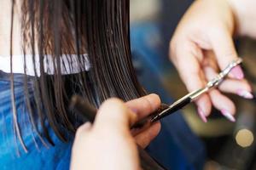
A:
[[[25,62],[26,59],[26,62]],[[55,64],[54,64],[55,60]],[[40,76],[40,65],[39,65],[39,55],[35,55],[35,65],[33,65],[32,55],[13,55],[12,59],[13,73],[20,73],[29,76],[35,76],[35,71],[37,76]],[[26,63],[26,71],[24,66]],[[50,55],[44,56],[44,72],[53,75],[56,70],[56,59],[53,59]],[[3,72],[10,73],[10,57],[9,56],[0,56],[0,70]],[[87,54],[83,55],[62,55],[61,56],[61,74],[75,74],[80,71],[89,71],[90,70],[90,61]]]

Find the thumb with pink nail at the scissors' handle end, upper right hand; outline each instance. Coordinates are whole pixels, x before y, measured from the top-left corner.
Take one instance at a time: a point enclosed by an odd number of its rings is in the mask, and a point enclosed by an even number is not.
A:
[[[232,35],[227,29],[223,28],[221,31],[214,30],[210,39],[213,51],[218,59],[218,65],[221,70],[224,70],[224,68],[229,65],[230,62],[238,58]],[[244,74],[241,70],[241,66],[236,66],[236,68],[230,72],[230,77],[239,80],[243,79]]]

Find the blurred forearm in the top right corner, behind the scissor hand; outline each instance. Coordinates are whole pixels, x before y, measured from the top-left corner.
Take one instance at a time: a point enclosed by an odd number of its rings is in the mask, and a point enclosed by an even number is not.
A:
[[[236,33],[238,36],[256,38],[256,1],[227,0],[236,16]]]

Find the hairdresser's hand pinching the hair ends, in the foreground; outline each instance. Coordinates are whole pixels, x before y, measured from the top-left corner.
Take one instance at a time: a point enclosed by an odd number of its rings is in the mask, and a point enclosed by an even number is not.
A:
[[[135,137],[130,127],[159,106],[160,99],[154,94],[127,104],[119,99],[108,99],[98,111],[94,125],[86,123],[79,127],[73,144],[71,169],[140,169],[136,142],[146,146],[159,133],[160,123]]]

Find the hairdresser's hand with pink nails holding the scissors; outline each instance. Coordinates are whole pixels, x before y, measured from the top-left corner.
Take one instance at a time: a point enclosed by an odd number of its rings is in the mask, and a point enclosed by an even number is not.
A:
[[[232,39],[235,33],[233,9],[227,0],[197,0],[184,14],[171,41],[170,56],[189,92],[202,88],[230,62],[237,59]],[[252,99],[251,87],[236,66],[218,89],[196,101],[204,122],[212,105],[234,122],[236,107],[224,93]]]

